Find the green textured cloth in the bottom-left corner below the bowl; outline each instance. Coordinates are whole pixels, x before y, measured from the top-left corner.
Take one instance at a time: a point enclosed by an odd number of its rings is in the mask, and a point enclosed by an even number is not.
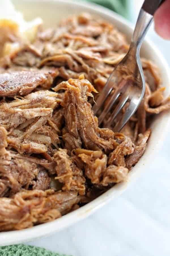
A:
[[[0,255],[1,256],[66,256],[65,254],[54,253],[40,247],[24,245],[24,244],[1,246]]]

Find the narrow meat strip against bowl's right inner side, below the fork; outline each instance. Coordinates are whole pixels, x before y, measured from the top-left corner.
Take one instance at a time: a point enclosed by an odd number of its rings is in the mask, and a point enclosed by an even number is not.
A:
[[[125,161],[128,169],[131,169],[131,167],[134,166],[143,155],[150,133],[151,130],[147,130],[144,134],[139,134],[139,139],[135,145],[134,152],[129,155]]]

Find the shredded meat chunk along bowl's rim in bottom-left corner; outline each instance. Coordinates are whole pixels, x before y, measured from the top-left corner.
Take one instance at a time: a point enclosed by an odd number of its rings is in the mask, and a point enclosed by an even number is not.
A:
[[[0,231],[20,230],[59,218],[80,201],[77,193],[24,190],[13,198],[0,198]]]

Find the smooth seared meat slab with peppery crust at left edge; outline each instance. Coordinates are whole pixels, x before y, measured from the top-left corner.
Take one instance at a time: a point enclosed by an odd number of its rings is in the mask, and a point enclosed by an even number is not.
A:
[[[26,95],[37,86],[50,88],[58,74],[56,69],[33,69],[0,74],[0,96]]]

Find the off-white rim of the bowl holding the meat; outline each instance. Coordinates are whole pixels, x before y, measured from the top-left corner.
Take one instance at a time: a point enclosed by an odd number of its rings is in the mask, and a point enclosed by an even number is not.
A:
[[[122,26],[124,26],[124,25],[128,26],[130,29],[134,28],[134,26],[131,24],[131,22],[129,22],[125,18],[121,17],[117,13],[114,13],[113,11],[111,11],[105,7],[96,5],[94,3],[83,2],[83,1],[75,2],[75,1],[71,1],[71,0],[41,0],[41,1],[44,3],[48,2],[48,4],[56,3],[56,5],[57,4],[59,4],[59,5],[75,5],[75,7],[82,8],[82,9],[83,9],[83,7],[85,7],[85,9],[88,9],[89,12],[90,11],[94,12],[94,8],[95,8],[95,13],[97,13],[98,15],[104,14],[104,15],[108,16],[109,19],[116,19],[119,23],[121,23]],[[23,0],[23,2],[39,3],[39,0]],[[145,42],[147,45],[149,45],[153,49],[154,52],[158,53],[157,55],[159,56],[160,62],[163,64],[163,66],[165,68],[165,73],[167,74],[168,81],[170,84],[169,66],[168,66],[167,62],[165,61],[162,53],[160,53],[159,49],[150,40],[148,40],[148,38],[145,39]],[[155,152],[158,151],[159,148],[162,146],[163,140],[168,132],[169,123],[170,123],[170,121],[165,122],[164,133],[162,133],[162,135],[161,135],[162,140],[160,140],[160,142],[158,142],[156,144],[156,148],[152,155],[155,155]],[[151,155],[150,155],[150,157],[151,157]],[[147,157],[145,155],[142,158],[143,158],[143,162],[144,161],[146,163],[148,162],[148,160],[146,159]],[[65,227],[67,227],[69,225],[74,224],[75,222],[77,222],[79,220],[82,220],[82,219],[88,217],[90,214],[95,212],[98,208],[102,207],[103,205],[105,205],[106,203],[111,201],[113,198],[118,197],[120,194],[122,194],[127,189],[127,187],[136,180],[137,176],[139,176],[142,171],[142,168],[140,168],[140,166],[142,166],[141,160],[138,162],[138,164],[136,166],[138,166],[138,168],[137,168],[138,171],[137,172],[134,172],[134,171],[129,172],[128,181],[126,181],[124,183],[116,184],[114,187],[109,189],[103,195],[94,199],[92,202],[84,205],[83,207],[80,207],[79,209],[77,209],[73,212],[66,214],[65,216],[62,216],[61,218],[58,218],[51,222],[33,226],[31,228],[23,229],[23,230],[1,232],[0,233],[0,241],[1,241],[0,245],[2,246],[2,245],[16,244],[16,243],[20,243],[20,242],[28,242],[28,241],[31,241],[36,238],[48,236],[48,235],[53,234],[61,229],[64,229]]]

